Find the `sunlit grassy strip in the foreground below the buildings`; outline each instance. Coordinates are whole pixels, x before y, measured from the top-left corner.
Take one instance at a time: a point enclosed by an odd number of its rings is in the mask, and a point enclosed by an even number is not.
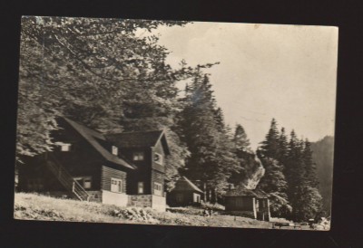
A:
[[[196,212],[195,212],[196,211]],[[188,213],[158,212],[150,208],[120,207],[81,202],[34,194],[15,194],[15,219],[53,220],[93,223],[172,224],[219,227],[271,228],[268,222],[231,215],[199,215],[197,209]],[[194,213],[195,212],[195,213]],[[197,213],[198,212],[198,213]]]

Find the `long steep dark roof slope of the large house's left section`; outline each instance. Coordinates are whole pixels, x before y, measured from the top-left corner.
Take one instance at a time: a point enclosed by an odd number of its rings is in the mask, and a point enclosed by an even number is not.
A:
[[[123,158],[117,157],[113,155],[110,151],[108,151],[106,148],[103,148],[103,146],[97,141],[97,139],[106,141],[106,138],[104,137],[103,134],[93,129],[88,129],[72,119],[68,119],[65,117],[63,117],[63,119],[69,125],[71,125],[80,135],[82,135],[83,138],[85,138],[91,144],[91,146],[93,146],[93,148],[95,148],[107,161],[127,168],[132,168],[132,169],[136,168],[131,163],[126,162]]]

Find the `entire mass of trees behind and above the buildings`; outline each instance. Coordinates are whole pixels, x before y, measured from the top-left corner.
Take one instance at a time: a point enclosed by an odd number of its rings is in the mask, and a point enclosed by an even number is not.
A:
[[[242,125],[229,127],[219,108],[209,63],[179,69],[151,31],[185,22],[24,17],[19,74],[17,162],[52,150],[50,133],[63,115],[101,132],[164,129],[172,156],[169,189],[179,176],[219,201],[228,185],[257,186],[272,215],[307,220],[322,215],[316,165],[308,139],[270,130],[257,152]],[[138,36],[140,30],[144,34]],[[188,81],[185,89],[177,87]],[[318,147],[314,147],[317,148]],[[320,178],[320,177],[319,177]]]

